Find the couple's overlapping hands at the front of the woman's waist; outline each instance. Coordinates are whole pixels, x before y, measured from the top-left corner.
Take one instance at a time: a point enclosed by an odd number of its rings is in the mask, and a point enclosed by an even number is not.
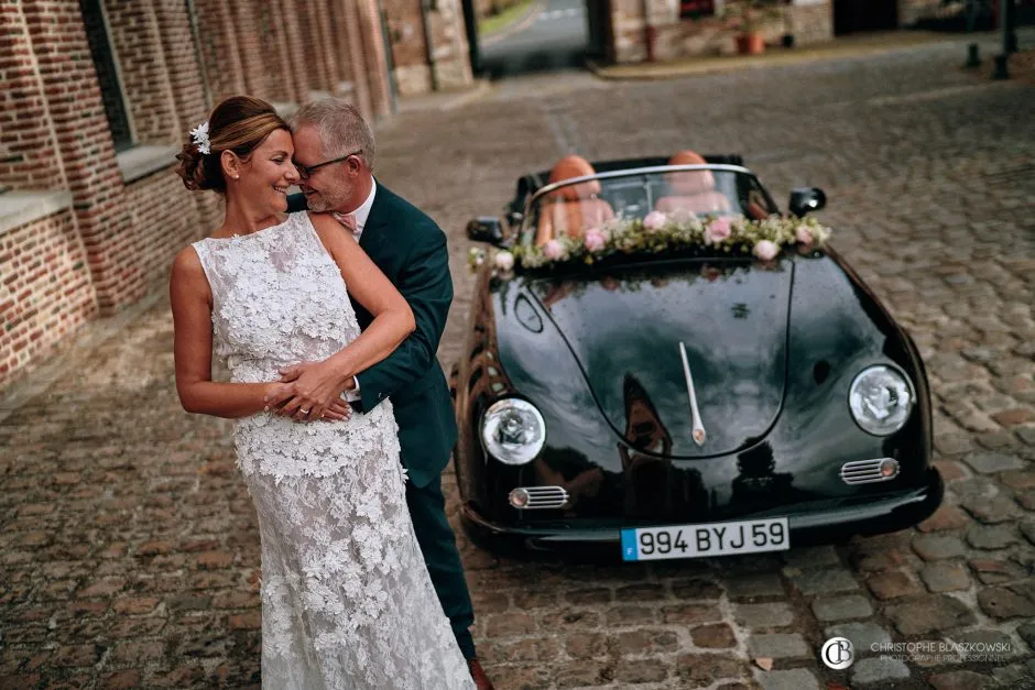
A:
[[[275,414],[296,421],[344,419],[352,412],[341,401],[341,392],[351,384],[342,383],[341,374],[324,362],[303,362],[281,370],[281,382],[288,384],[266,401]]]

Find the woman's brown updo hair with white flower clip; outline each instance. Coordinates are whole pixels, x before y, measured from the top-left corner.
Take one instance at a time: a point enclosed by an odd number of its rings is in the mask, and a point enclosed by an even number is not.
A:
[[[176,154],[179,161],[176,173],[183,177],[187,189],[213,189],[219,194],[227,191],[227,180],[219,163],[224,151],[232,151],[247,158],[271,132],[288,130],[273,106],[251,96],[226,99],[213,110],[207,124],[207,132],[192,132],[183,151]],[[203,152],[206,144],[208,153]]]

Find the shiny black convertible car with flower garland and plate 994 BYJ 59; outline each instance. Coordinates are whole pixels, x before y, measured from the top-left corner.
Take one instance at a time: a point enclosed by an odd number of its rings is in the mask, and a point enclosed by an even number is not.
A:
[[[748,554],[940,503],[924,364],[806,216],[822,191],[782,215],[739,156],[700,160],[525,175],[468,226],[492,245],[451,381],[479,543]]]

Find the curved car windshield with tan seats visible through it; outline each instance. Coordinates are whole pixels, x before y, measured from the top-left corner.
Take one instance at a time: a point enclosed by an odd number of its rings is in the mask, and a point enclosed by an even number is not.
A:
[[[777,212],[754,175],[730,165],[676,165],[577,177],[537,193],[522,223],[520,242],[543,247],[563,236],[652,211],[743,216],[761,220]]]

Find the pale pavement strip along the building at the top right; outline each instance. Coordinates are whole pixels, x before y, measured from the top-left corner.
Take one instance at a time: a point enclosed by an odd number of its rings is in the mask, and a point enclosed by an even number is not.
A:
[[[849,46],[836,45],[807,52],[805,48],[800,52],[776,53],[758,57],[729,56],[729,57],[705,57],[697,62],[687,62],[680,64],[657,64],[644,67],[635,65],[609,65],[603,66],[595,61],[586,61],[586,67],[598,78],[608,81],[657,81],[663,79],[675,79],[679,77],[689,77],[709,74],[723,74],[729,72],[740,72],[745,69],[765,69],[771,67],[788,67],[795,65],[806,65],[811,63],[852,59],[857,57],[867,57],[871,55],[881,55],[906,51],[915,47],[930,46],[946,43],[960,42],[957,37],[931,36],[919,41],[900,41],[886,44],[861,45],[851,50]]]

